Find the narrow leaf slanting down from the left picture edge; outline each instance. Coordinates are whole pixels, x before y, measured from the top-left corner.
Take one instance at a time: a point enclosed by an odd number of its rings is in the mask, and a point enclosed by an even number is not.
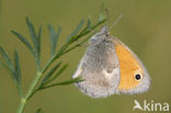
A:
[[[1,46],[0,46],[0,53],[1,53],[4,61],[7,63],[9,69],[11,70],[12,78],[15,79],[15,77],[14,77],[14,67],[12,66],[12,63],[11,63],[8,54],[4,52],[4,49]]]

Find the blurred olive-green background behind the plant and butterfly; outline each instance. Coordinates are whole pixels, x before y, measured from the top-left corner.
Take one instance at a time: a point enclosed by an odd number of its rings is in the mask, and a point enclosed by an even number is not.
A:
[[[95,22],[101,2],[103,0],[1,0],[0,45],[10,57],[14,49],[19,50],[24,91],[35,76],[35,63],[10,30],[19,31],[30,41],[25,16],[31,18],[36,29],[44,23],[42,60],[45,63],[49,57],[47,24],[52,23],[56,29],[62,26],[59,42],[62,44],[81,19],[91,16]],[[73,86],[55,87],[36,93],[24,113],[35,113],[37,108],[43,108],[45,113],[130,113],[135,99],[141,104],[144,100],[171,102],[171,1],[105,0],[104,3],[110,11],[110,24],[119,13],[124,14],[111,34],[128,45],[144,61],[152,80],[150,90],[136,95],[91,99]],[[58,81],[70,79],[84,50],[82,46],[62,57],[69,63],[69,68]],[[14,113],[18,104],[16,88],[7,70],[0,67],[0,113]]]

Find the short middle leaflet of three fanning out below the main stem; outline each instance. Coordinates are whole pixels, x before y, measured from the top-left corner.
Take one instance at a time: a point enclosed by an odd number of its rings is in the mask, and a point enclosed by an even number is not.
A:
[[[61,72],[62,72],[64,70],[66,70],[67,67],[68,67],[68,64],[64,65],[64,66],[55,74],[55,76],[52,77],[52,79],[48,79],[48,80],[46,81],[45,84],[52,82],[52,81],[55,80],[57,77],[59,77],[59,76],[61,75]]]

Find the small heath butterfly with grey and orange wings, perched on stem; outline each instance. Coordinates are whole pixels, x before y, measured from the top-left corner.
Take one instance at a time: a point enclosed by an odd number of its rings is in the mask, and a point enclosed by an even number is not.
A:
[[[114,93],[135,94],[149,89],[150,77],[139,58],[103,26],[90,41],[84,56],[72,78],[75,83],[92,98],[106,98]]]

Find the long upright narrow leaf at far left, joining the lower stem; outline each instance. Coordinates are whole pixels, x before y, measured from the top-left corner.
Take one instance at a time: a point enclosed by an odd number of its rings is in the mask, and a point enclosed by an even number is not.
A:
[[[23,91],[22,91],[22,80],[21,80],[21,68],[20,68],[20,61],[19,61],[19,54],[16,50],[14,52],[14,63],[15,63],[14,76],[18,82],[19,94],[20,97],[22,97]]]

